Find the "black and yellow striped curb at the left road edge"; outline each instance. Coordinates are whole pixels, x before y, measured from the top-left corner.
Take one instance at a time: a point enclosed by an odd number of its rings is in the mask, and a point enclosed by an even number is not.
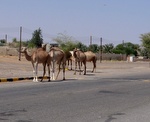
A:
[[[41,79],[42,77],[38,77],[38,79]],[[48,79],[49,77],[44,76],[43,79]],[[32,80],[33,77],[26,77],[26,78],[0,78],[0,82],[13,82],[13,81],[19,81],[19,80]]]

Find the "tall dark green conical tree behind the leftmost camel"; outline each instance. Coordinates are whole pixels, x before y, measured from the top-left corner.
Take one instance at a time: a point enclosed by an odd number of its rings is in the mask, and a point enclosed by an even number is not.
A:
[[[29,47],[39,48],[43,44],[42,30],[39,28],[32,34],[32,39],[29,41]]]

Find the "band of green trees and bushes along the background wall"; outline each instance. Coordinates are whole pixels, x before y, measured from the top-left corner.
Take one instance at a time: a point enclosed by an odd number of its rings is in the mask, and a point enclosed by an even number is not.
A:
[[[105,45],[85,45],[82,41],[75,40],[73,37],[68,36],[63,33],[59,33],[56,38],[53,38],[53,41],[56,42],[59,47],[65,52],[78,48],[82,51],[92,51],[98,53],[102,50],[103,53],[109,54],[126,54],[134,56],[144,56],[150,58],[150,32],[140,35],[141,45],[133,44],[131,42],[125,42],[114,46],[113,43]],[[21,46],[28,48],[38,48],[43,44],[42,30],[39,28],[35,30],[32,34],[30,40],[21,41]],[[12,40],[11,43],[7,43],[5,39],[0,40],[0,46],[8,45],[10,47],[19,48],[20,41],[16,38]]]

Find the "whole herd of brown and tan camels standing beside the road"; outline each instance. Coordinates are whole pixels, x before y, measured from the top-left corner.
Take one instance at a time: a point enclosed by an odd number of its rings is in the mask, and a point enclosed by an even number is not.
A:
[[[81,65],[83,63],[84,65],[84,75],[86,75],[86,62],[93,62],[93,70],[96,69],[96,55],[91,52],[82,52],[79,49],[74,49],[71,53],[70,52],[64,52],[59,47],[51,47],[50,50],[46,51],[46,44],[43,44],[41,48],[37,48],[35,51],[32,52],[31,55],[29,55],[27,47],[23,47],[20,51],[21,53],[24,53],[25,58],[28,61],[31,61],[33,66],[33,81],[38,82],[38,64],[43,64],[43,77],[41,79],[41,82],[43,81],[43,78],[46,73],[46,66],[48,67],[48,81],[56,80],[58,78],[58,75],[60,73],[61,68],[63,69],[63,80],[65,80],[65,68],[66,68],[66,62],[71,62],[71,70],[72,70],[72,61],[75,62],[75,72],[77,71],[77,63],[79,67],[79,74],[81,75]],[[54,76],[54,69],[55,64],[58,66],[58,72],[56,77]],[[52,79],[50,77],[50,68],[52,68]]]

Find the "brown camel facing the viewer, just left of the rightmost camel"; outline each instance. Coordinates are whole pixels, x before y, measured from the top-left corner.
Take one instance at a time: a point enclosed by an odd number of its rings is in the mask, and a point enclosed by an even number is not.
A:
[[[83,63],[84,64],[84,75],[86,75],[86,55],[84,54],[84,52],[75,48],[73,50],[73,56],[75,58],[75,72],[74,72],[74,74],[76,74],[77,62],[78,62],[79,74],[81,75],[81,66],[80,65],[81,65],[81,63]]]

